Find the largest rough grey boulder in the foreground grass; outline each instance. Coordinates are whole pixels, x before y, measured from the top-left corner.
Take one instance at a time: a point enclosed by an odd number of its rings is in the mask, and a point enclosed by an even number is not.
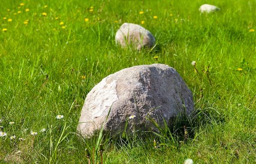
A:
[[[147,117],[164,127],[164,120],[170,125],[180,112],[189,118],[193,111],[192,92],[175,69],[164,64],[134,66],[110,74],[92,88],[77,130],[90,137],[107,118],[104,131],[112,135],[124,131],[127,120],[127,133],[134,129],[157,132]]]

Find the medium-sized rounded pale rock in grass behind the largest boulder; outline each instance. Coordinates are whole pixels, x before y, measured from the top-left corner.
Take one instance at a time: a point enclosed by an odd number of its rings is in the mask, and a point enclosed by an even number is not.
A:
[[[155,37],[144,27],[138,24],[124,23],[119,28],[115,36],[116,44],[120,44],[121,47],[128,45],[137,50],[141,48],[151,48],[155,45]]]

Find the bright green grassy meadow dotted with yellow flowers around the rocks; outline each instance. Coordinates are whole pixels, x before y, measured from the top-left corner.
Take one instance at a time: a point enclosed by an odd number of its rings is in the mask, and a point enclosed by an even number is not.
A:
[[[220,11],[200,14],[205,3]],[[125,22],[148,29],[155,49],[116,46]],[[85,149],[92,163],[99,143],[104,164],[256,163],[254,29],[256,0],[2,1],[0,163],[88,164]],[[153,63],[175,68],[192,91],[190,120],[159,136],[77,136],[92,87],[124,68]]]

